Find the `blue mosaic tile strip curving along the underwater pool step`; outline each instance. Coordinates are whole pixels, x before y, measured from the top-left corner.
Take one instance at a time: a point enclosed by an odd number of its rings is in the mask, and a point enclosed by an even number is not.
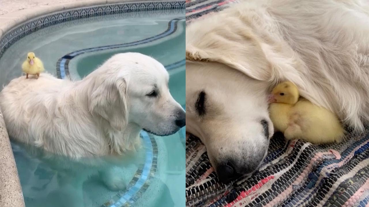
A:
[[[56,75],[58,78],[64,79],[65,77],[69,76],[69,62],[71,59],[75,58],[78,55],[82,55],[88,52],[96,52],[101,50],[108,50],[108,49],[116,49],[116,48],[124,48],[127,46],[136,46],[141,45],[144,43],[152,42],[166,36],[173,34],[177,30],[177,23],[183,18],[174,18],[168,22],[168,28],[166,31],[162,32],[161,34],[145,38],[135,42],[128,42],[123,44],[116,44],[116,45],[107,45],[107,46],[99,46],[94,48],[85,48],[70,52],[63,57],[61,57],[56,62]],[[186,60],[180,60],[178,62],[169,64],[165,66],[166,70],[176,69],[178,67],[184,66],[186,64]],[[184,140],[184,133],[182,129],[178,132],[180,136],[180,140]],[[151,134],[146,133],[145,131],[141,131],[141,137],[144,140],[145,148],[149,149],[146,152],[145,157],[145,164],[138,167],[134,178],[131,179],[130,183],[127,186],[127,190],[124,192],[118,192],[112,199],[105,202],[100,207],[128,207],[131,206],[139,199],[142,193],[146,191],[149,187],[150,179],[154,176],[156,172],[157,166],[157,156],[158,156],[158,149],[156,145],[155,138],[152,137]],[[149,142],[151,140],[151,143]]]

